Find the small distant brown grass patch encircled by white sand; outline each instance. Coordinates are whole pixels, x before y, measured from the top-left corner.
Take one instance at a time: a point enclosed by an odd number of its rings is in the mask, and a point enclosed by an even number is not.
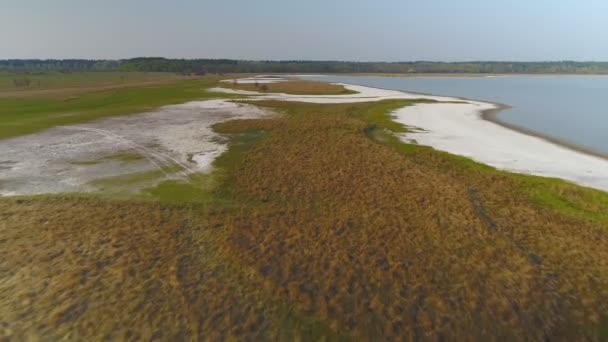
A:
[[[285,93],[293,95],[344,95],[356,94],[356,92],[344,88],[339,84],[331,84],[317,81],[286,81],[276,83],[260,83],[255,84],[233,84],[224,82],[222,86],[226,88],[248,90],[268,93]]]

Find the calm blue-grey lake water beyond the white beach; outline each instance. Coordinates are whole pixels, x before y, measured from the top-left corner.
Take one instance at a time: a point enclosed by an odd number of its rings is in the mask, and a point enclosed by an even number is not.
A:
[[[608,153],[608,76],[305,78],[499,102],[504,122]]]

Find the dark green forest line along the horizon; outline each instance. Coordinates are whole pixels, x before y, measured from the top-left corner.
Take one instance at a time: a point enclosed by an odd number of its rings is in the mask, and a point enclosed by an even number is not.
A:
[[[530,73],[608,74],[608,62],[346,62],[249,61],[231,59],[169,59],[140,57],[122,60],[8,59],[0,71],[146,71],[205,73]]]

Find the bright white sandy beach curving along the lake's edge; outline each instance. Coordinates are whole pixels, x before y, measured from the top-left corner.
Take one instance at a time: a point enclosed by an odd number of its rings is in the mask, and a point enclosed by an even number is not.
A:
[[[456,97],[406,93],[365,86],[342,84],[357,94],[303,96],[261,94],[231,89],[214,91],[258,95],[255,99],[312,103],[350,103],[390,99],[431,99],[444,103],[425,103],[401,108],[395,121],[418,128],[401,136],[406,142],[431,146],[465,156],[501,170],[565,179],[580,185],[608,190],[608,159],[587,151],[564,146],[497,122],[501,105]],[[460,103],[445,103],[445,102]]]

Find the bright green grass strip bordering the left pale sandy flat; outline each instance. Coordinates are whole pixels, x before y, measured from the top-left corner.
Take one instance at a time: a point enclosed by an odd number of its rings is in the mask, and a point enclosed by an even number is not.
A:
[[[159,84],[92,88],[84,92],[78,88],[56,88],[60,92],[50,95],[24,93],[0,97],[0,139],[191,100],[229,97],[204,91],[220,79],[220,76],[206,76],[192,80],[164,80]]]

